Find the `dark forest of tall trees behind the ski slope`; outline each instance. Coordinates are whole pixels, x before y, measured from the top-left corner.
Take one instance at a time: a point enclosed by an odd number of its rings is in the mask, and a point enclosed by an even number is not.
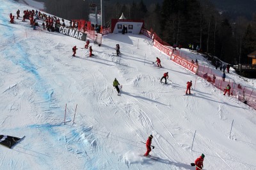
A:
[[[45,6],[46,12],[68,20],[88,20],[90,13],[90,2],[82,0],[46,0]],[[252,20],[230,20],[209,0],[164,0],[149,6],[143,0],[131,4],[106,2],[104,9],[106,26],[124,13],[127,19],[144,20],[146,29],[170,45],[188,48],[192,43],[231,65],[252,63],[247,55],[256,50],[256,14]]]

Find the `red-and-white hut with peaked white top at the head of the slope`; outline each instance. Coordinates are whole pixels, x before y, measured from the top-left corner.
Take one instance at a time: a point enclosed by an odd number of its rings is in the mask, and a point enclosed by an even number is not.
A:
[[[129,20],[125,19],[124,13],[119,19],[111,19],[111,33],[122,33],[123,29],[127,28],[127,32],[134,35],[139,35],[141,28],[144,26],[144,20]]]

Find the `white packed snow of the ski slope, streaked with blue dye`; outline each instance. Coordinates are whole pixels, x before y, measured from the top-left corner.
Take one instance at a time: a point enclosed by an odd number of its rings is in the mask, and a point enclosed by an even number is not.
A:
[[[26,137],[12,149],[0,145],[0,169],[195,169],[202,153],[204,169],[256,169],[255,109],[170,61],[149,38],[109,34],[100,47],[90,40],[90,58],[76,38],[34,31],[28,20],[10,24],[17,9],[33,8],[1,1],[0,134]],[[163,68],[152,65],[156,57]],[[160,82],[164,72],[169,84]],[[228,76],[242,81],[234,70]],[[140,156],[150,134],[158,160]]]

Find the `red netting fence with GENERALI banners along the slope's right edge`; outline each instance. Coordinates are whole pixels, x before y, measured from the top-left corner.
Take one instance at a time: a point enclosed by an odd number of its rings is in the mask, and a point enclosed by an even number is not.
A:
[[[189,58],[189,56],[186,53],[182,53],[180,50],[174,49],[173,47],[171,47],[171,45],[161,40],[161,38],[159,38],[159,36],[157,36],[156,33],[150,33],[150,31],[147,31],[146,29],[141,29],[141,34],[152,39],[154,47],[170,56],[170,59],[173,62],[183,66],[184,68],[187,68],[196,75],[203,77],[206,81],[211,82],[212,85],[216,86],[216,88],[223,91],[223,93],[226,86],[230,84],[230,95],[232,97],[236,97],[244,104],[248,104],[254,109],[256,109],[255,89],[246,86],[241,86],[241,84],[237,84],[232,79],[223,79],[221,77],[221,73],[214,68],[210,68],[209,66],[205,65],[199,65],[198,63],[191,63],[192,59]],[[216,77],[215,79],[212,78],[213,75]]]

